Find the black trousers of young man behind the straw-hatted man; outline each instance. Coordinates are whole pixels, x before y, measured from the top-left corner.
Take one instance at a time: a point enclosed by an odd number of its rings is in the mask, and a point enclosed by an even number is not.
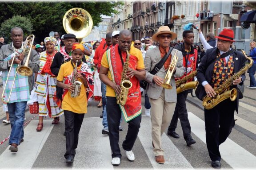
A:
[[[188,120],[188,112],[186,106],[186,99],[188,96],[189,90],[177,94],[177,102],[175,110],[172,116],[170,126],[168,127],[169,131],[175,131],[177,128],[178,119],[180,118],[180,124],[183,131],[184,139],[191,138],[191,127]]]

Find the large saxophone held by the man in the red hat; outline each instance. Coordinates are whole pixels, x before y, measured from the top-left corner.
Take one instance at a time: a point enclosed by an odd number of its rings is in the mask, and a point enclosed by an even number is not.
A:
[[[220,85],[218,88],[215,88],[214,91],[216,93],[215,97],[208,97],[205,96],[203,98],[203,106],[205,109],[212,109],[217,104],[219,104],[221,101],[226,100],[230,98],[231,101],[236,100],[237,97],[237,90],[236,88],[233,88],[231,90],[228,90],[228,88],[233,84],[233,81],[239,78],[242,74],[246,72],[250,67],[252,67],[253,60],[250,57],[247,57],[244,50],[242,50],[245,58],[249,60],[249,64],[246,64],[243,68],[241,68],[236,74],[232,75],[230,78],[228,78],[222,85]]]

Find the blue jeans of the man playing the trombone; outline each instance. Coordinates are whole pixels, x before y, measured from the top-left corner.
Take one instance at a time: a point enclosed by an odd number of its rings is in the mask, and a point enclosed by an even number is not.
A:
[[[24,137],[24,117],[25,109],[27,106],[27,101],[21,101],[16,103],[8,103],[9,117],[11,121],[11,135],[9,139],[9,144],[16,143],[20,145],[20,140]]]

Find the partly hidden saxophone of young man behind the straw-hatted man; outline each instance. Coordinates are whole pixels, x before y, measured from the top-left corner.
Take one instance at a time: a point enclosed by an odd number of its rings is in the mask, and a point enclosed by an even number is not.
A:
[[[188,76],[185,76],[182,79],[176,81],[176,92],[177,92],[177,94],[179,94],[179,93],[181,93],[185,90],[188,90],[188,89],[196,89],[196,87],[199,83],[198,81],[187,82],[191,78],[195,77],[196,73],[197,73],[197,70],[193,71]]]

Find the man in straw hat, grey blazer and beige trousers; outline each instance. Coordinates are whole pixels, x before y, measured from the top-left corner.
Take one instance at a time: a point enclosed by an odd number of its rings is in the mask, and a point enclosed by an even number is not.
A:
[[[160,62],[161,58],[170,50],[170,42],[176,39],[177,35],[171,32],[168,26],[161,26],[157,33],[152,36],[152,39],[159,42],[159,46],[148,50],[144,59],[144,65],[146,70],[145,80],[149,82],[147,89],[149,101],[151,104],[151,120],[152,120],[152,145],[154,147],[154,154],[156,162],[164,163],[164,150],[161,144],[161,135],[168,127],[172,119],[171,113],[174,112],[176,103],[176,84],[173,76],[181,77],[184,74],[183,57],[179,50],[173,49],[168,56],[166,62],[162,68],[155,74],[151,74],[150,71],[154,69],[156,64]],[[172,89],[164,89],[163,84],[164,77],[170,66],[174,55],[178,57],[176,67],[170,81]]]

